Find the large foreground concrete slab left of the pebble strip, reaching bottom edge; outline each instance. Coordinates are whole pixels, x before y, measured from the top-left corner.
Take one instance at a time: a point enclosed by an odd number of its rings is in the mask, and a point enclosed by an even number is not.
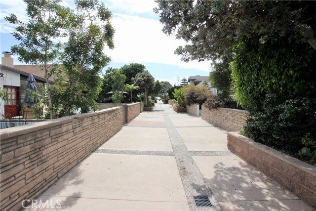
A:
[[[173,156],[93,153],[41,198],[65,210],[189,210]]]

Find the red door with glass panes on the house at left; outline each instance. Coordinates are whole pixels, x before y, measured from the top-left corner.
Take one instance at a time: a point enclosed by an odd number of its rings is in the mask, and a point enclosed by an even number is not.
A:
[[[3,86],[3,90],[8,95],[8,99],[4,102],[5,119],[19,116],[18,87],[16,87],[16,86]]]

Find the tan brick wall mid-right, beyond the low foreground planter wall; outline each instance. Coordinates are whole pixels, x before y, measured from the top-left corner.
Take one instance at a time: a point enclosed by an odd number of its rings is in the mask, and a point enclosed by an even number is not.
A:
[[[202,105],[202,120],[230,131],[240,131],[243,129],[246,114],[248,112],[244,110],[230,108],[209,110]]]

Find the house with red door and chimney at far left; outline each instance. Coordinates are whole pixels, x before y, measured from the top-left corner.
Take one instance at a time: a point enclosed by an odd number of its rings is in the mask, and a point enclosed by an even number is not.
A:
[[[4,51],[1,57],[0,65],[0,88],[8,94],[8,99],[0,99],[0,119],[8,119],[16,116],[22,116],[24,107],[27,103],[23,102],[26,94],[27,78],[33,75],[38,91],[42,91],[46,80],[43,77],[43,71],[39,72],[39,68],[33,65],[21,65],[24,70],[17,69],[20,65],[13,64],[12,53]],[[22,68],[22,69],[23,69]],[[54,84],[51,80],[50,84]]]

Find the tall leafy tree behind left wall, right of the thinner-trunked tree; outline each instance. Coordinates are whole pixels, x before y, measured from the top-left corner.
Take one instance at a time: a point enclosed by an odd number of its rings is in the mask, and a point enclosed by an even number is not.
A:
[[[98,0],[76,0],[78,13],[69,28],[69,41],[65,47],[63,65],[69,78],[67,95],[69,106],[65,113],[73,107],[81,112],[96,110],[96,99],[101,91],[99,75],[110,62],[104,53],[107,45],[114,48],[114,28],[110,20],[111,11]]]

